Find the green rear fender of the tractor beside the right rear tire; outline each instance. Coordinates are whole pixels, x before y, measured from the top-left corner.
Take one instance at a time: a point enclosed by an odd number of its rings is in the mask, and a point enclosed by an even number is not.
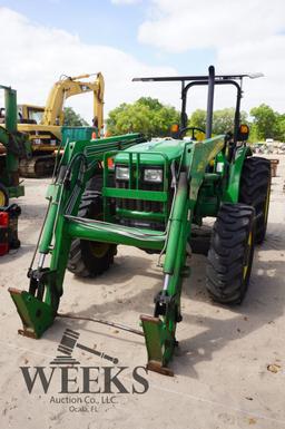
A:
[[[239,183],[245,158],[252,155],[252,149],[247,146],[239,147],[236,152],[235,160],[229,168],[228,186],[223,201],[225,203],[238,203]]]

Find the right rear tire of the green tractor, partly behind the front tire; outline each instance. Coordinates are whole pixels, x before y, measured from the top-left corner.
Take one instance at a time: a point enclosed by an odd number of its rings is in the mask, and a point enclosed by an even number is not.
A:
[[[255,243],[263,243],[268,218],[271,198],[271,162],[258,156],[248,157],[244,162],[239,203],[255,208]]]

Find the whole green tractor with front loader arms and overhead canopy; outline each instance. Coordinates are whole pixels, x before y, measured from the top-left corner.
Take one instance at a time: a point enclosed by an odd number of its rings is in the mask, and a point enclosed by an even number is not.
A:
[[[33,257],[28,272],[29,291],[9,290],[23,323],[20,333],[40,338],[55,318],[65,316],[58,311],[66,269],[77,276],[96,276],[111,266],[119,244],[136,246],[156,253],[160,262],[154,314],[140,315],[142,331],[88,320],[142,334],[148,369],[171,374],[167,365],[183,319],[187,255],[195,251],[197,227],[206,216],[216,218],[207,252],[209,295],[223,304],[243,301],[254,246],[265,237],[271,193],[269,162],[252,156],[248,127],[239,124],[240,84],[246,76],[215,76],[210,66],[207,76],[135,79],[181,82],[176,138],[146,142],[128,134],[66,146],[48,189],[38,264],[33,267]],[[208,87],[203,142],[195,138],[199,129],[187,127],[186,116],[188,90],[200,85]],[[213,137],[214,90],[219,85],[237,91],[234,133]],[[190,138],[185,137],[187,131]]]

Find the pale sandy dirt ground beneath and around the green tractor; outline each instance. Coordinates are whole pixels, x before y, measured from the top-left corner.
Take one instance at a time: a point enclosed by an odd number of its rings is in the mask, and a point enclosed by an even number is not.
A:
[[[179,349],[171,363],[175,377],[144,376],[139,370],[149,386],[144,394],[131,391],[132,370],[145,365],[147,359],[141,337],[62,319],[41,340],[17,334],[21,323],[8,287],[28,287],[27,267],[47,205],[49,182],[27,179],[26,196],[19,199],[22,246],[0,259],[0,427],[285,428],[285,156],[279,159],[278,176],[272,184],[267,240],[256,248],[243,305],[227,309],[213,304],[205,293],[205,257],[193,256],[193,275],[184,284]],[[138,328],[139,314],[153,313],[153,298],[161,286],[156,263],[156,255],[120,246],[112,269],[96,280],[79,281],[67,272],[60,311]],[[31,374],[35,367],[45,367],[49,377],[50,361],[59,353],[57,347],[66,328],[80,333],[81,344],[117,357],[119,365],[126,367],[120,380],[129,393],[92,393],[86,399],[88,396],[80,393],[81,370],[77,374],[79,392],[59,393],[59,368],[47,393],[39,380],[28,392],[20,367],[30,367]],[[80,349],[75,349],[72,357],[81,367],[109,364]],[[136,387],[141,391],[141,383],[136,382]],[[76,382],[70,381],[70,390],[76,389]],[[96,406],[85,402],[95,398]],[[69,400],[77,402],[62,403]]]

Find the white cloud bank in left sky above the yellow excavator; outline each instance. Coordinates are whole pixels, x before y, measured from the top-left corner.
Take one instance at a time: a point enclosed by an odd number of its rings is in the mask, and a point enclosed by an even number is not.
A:
[[[1,69],[0,84],[18,91],[18,101],[46,103],[49,89],[60,75],[78,76],[101,71],[105,76],[105,111],[141,96],[156,96],[175,103],[163,86],[131,82],[135,76],[173,75],[169,67],[151,67],[132,56],[108,47],[83,43],[76,35],[42,27],[7,8],[0,8]],[[92,117],[91,96],[70,98],[88,120]]]

